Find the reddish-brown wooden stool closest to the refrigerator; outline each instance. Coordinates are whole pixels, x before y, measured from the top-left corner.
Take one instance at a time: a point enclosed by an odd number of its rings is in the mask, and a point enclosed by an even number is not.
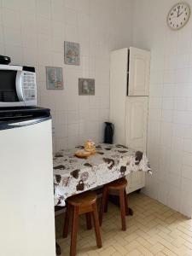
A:
[[[67,212],[65,218],[65,224],[63,228],[63,237],[67,237],[68,223],[70,215],[72,215],[72,236],[70,255],[76,254],[76,242],[77,232],[79,224],[79,215],[86,214],[87,229],[91,229],[91,215],[93,217],[95,232],[96,232],[96,244],[97,247],[102,247],[102,239],[100,235],[99,218],[96,207],[96,193],[92,191],[85,192],[84,194],[74,195],[67,200]]]

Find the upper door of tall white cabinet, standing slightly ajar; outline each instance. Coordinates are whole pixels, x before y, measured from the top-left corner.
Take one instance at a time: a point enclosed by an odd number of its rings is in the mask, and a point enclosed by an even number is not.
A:
[[[130,48],[128,96],[148,96],[150,52]]]

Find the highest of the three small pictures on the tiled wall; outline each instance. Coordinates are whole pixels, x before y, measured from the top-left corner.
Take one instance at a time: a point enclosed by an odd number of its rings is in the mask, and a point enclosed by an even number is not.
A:
[[[80,65],[80,44],[64,42],[64,61],[67,65]]]

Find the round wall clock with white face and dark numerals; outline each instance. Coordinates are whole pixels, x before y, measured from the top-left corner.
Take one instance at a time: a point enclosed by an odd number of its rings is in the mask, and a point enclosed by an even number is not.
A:
[[[188,3],[177,3],[167,16],[167,24],[173,30],[183,27],[189,20],[190,7]]]

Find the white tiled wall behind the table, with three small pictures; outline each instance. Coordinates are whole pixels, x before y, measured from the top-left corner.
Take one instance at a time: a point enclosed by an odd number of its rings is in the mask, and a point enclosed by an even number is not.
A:
[[[108,120],[109,52],[129,47],[130,0],[0,0],[0,55],[38,72],[38,105],[51,108],[54,149],[102,141]],[[64,40],[78,42],[81,65],[63,61]],[[64,90],[46,90],[45,66],[63,67]],[[96,79],[96,96],[79,96],[78,79]]]

